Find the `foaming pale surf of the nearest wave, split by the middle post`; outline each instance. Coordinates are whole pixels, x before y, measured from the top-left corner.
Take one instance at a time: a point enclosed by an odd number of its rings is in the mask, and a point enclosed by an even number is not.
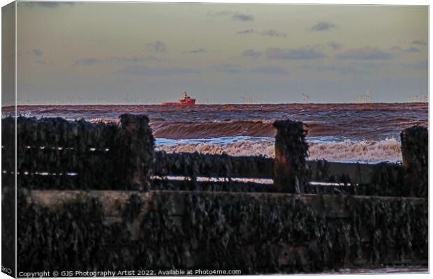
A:
[[[309,160],[335,162],[397,162],[402,160],[400,144],[391,138],[381,141],[309,142]],[[156,150],[173,152],[226,153],[230,156],[265,156],[273,158],[273,140],[238,140],[216,144],[215,142],[157,143]]]

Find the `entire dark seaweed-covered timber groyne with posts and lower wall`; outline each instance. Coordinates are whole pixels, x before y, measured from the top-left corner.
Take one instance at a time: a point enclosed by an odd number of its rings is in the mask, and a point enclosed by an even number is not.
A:
[[[425,128],[402,131],[402,165],[362,165],[305,160],[293,121],[274,123],[270,159],[156,152],[147,116],[16,120],[17,175],[3,155],[2,200],[16,177],[17,271],[427,265]],[[2,119],[3,137],[13,130]]]

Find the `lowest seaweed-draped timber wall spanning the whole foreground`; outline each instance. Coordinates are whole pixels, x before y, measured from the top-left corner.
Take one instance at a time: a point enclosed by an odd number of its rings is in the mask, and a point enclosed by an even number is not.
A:
[[[427,204],[415,197],[164,190],[31,190],[20,197],[23,271],[45,264],[299,273],[425,264],[428,255]],[[74,246],[87,253],[65,253]],[[52,257],[30,257],[34,251]]]

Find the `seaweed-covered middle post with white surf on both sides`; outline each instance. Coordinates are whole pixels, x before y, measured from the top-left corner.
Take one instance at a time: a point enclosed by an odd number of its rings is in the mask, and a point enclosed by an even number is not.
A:
[[[277,192],[304,193],[309,180],[307,131],[302,122],[275,121],[274,188]]]

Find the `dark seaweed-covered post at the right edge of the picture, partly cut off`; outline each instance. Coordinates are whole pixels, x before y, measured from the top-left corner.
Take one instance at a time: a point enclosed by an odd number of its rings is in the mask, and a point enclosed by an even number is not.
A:
[[[409,195],[428,197],[429,135],[425,127],[413,126],[402,130],[403,167],[406,169],[405,184]]]

